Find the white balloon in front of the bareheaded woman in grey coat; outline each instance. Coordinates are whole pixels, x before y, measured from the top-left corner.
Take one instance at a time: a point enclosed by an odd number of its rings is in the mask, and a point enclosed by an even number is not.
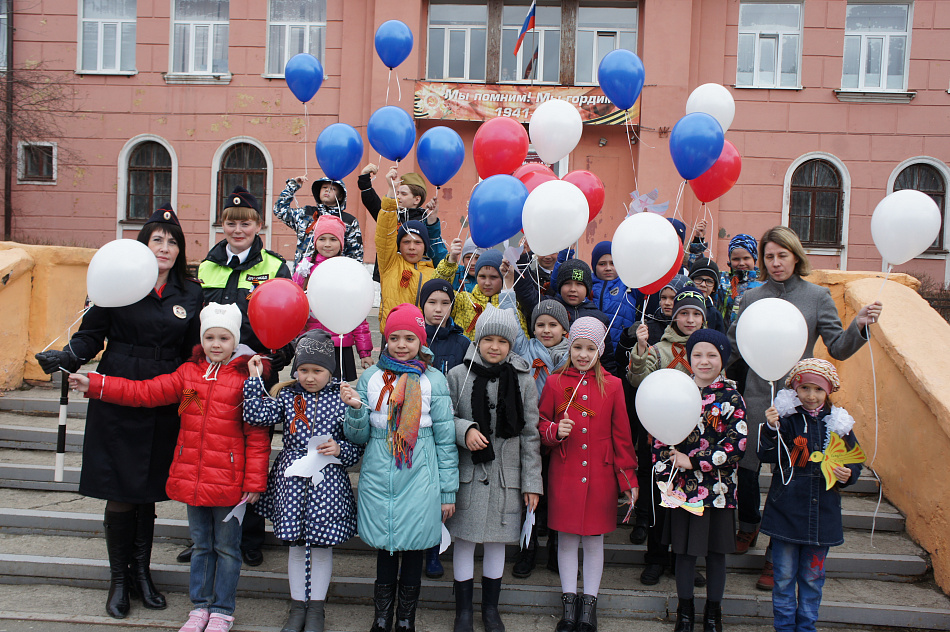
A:
[[[781,298],[763,298],[739,316],[736,342],[742,359],[767,382],[785,377],[802,359],[808,324],[797,307]]]

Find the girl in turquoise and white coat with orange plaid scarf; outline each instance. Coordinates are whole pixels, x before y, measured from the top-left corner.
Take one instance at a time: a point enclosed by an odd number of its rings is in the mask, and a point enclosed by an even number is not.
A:
[[[371,632],[414,632],[426,549],[455,512],[458,449],[445,376],[429,366],[425,320],[414,305],[393,308],[386,346],[353,389],[344,382],[343,432],[366,445],[357,488],[360,538],[378,549]],[[399,561],[402,557],[400,572]],[[396,605],[398,576],[398,605]]]

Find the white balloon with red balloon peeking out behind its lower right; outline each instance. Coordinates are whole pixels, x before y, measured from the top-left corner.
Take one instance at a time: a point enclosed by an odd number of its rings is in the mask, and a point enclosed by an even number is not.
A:
[[[620,222],[610,248],[617,274],[627,287],[639,288],[663,278],[679,256],[676,229],[662,215],[636,213]]]

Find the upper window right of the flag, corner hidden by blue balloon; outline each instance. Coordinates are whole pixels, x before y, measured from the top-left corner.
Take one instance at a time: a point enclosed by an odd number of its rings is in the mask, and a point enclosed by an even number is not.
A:
[[[577,10],[575,84],[596,84],[604,56],[617,48],[637,50],[637,7],[597,7]]]

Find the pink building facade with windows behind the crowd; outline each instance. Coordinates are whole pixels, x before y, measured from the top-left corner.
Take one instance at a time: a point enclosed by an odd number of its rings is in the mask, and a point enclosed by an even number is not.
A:
[[[61,136],[14,139],[15,240],[96,247],[133,237],[151,209],[171,201],[188,258],[198,261],[221,238],[220,198],[243,183],[267,211],[265,242],[292,258],[294,236],[270,208],[286,179],[322,176],[313,147],[326,125],[353,125],[365,141],[374,110],[389,103],[413,112],[415,91],[430,82],[593,89],[597,61],[616,47],[635,50],[646,67],[638,139],[628,143],[623,125],[586,125],[556,165],[593,171],[606,186],[582,254],[610,239],[634,189],[658,189],[670,213],[679,198],[687,224],[708,217],[723,265],[733,235],[787,224],[819,267],[880,270],[869,224],[887,193],[924,190],[946,212],[950,2],[539,0],[537,33],[514,56],[528,1],[7,1],[13,68],[41,68],[73,103],[51,114]],[[376,28],[390,19],[415,37],[391,77],[373,49]],[[282,76],[301,51],[317,55],[326,73],[306,114]],[[688,186],[678,195],[668,143],[690,92],[710,82],[735,98],[726,138],[743,169],[704,210]],[[478,122],[418,118],[417,135],[438,124],[458,131],[468,152],[440,192],[450,239],[463,230],[478,181]],[[368,143],[364,158],[377,161]],[[414,156],[401,168],[417,170]],[[356,173],[345,182],[371,261],[375,227]],[[312,203],[309,187],[298,202]],[[948,246],[942,228],[934,247],[901,270],[950,281]]]

